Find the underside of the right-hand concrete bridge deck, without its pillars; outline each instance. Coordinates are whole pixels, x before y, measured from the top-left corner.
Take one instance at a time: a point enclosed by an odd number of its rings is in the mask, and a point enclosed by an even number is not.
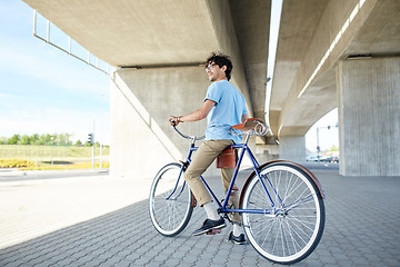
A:
[[[274,135],[304,135],[339,107],[338,62],[400,55],[400,3],[284,0],[270,102]]]

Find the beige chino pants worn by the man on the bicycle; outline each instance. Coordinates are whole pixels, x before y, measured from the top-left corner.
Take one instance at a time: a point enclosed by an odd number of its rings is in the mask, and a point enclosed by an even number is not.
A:
[[[210,167],[217,156],[226,149],[228,146],[233,145],[232,140],[204,140],[199,149],[194,152],[192,162],[184,172],[184,179],[187,180],[190,189],[194,194],[196,199],[200,206],[212,200],[204,184],[201,181],[200,176]],[[230,181],[232,179],[234,168],[221,169],[221,179],[224,191],[229,189]],[[232,208],[239,208],[239,191],[232,191],[228,204]],[[231,220],[240,224],[240,215],[234,212],[231,216]]]

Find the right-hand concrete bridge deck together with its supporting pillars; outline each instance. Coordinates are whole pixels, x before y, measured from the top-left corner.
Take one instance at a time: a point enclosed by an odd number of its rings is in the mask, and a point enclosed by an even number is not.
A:
[[[303,158],[310,126],[338,107],[340,174],[400,174],[399,13],[396,0],[283,1],[268,110],[280,157]]]

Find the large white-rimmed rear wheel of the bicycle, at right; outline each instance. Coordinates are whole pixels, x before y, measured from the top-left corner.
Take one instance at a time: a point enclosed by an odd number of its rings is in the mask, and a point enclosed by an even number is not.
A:
[[[321,239],[324,227],[324,205],[309,174],[301,168],[278,162],[262,167],[243,192],[243,209],[264,214],[243,212],[244,233],[254,249],[267,259],[293,264],[308,257]]]

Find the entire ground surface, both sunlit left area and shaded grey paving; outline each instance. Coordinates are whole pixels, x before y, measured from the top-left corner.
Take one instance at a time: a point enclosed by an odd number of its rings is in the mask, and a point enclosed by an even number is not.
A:
[[[306,166],[327,194],[327,220],[317,249],[296,266],[400,266],[400,177],[344,177],[338,165]],[[241,172],[238,184],[249,172]],[[41,171],[40,177],[56,175],[61,176]],[[0,266],[277,266],[250,245],[227,243],[230,225],[220,235],[192,237],[206,218],[199,207],[179,236],[159,235],[148,211],[151,181],[68,175],[0,182]],[[223,196],[219,176],[208,181]]]

